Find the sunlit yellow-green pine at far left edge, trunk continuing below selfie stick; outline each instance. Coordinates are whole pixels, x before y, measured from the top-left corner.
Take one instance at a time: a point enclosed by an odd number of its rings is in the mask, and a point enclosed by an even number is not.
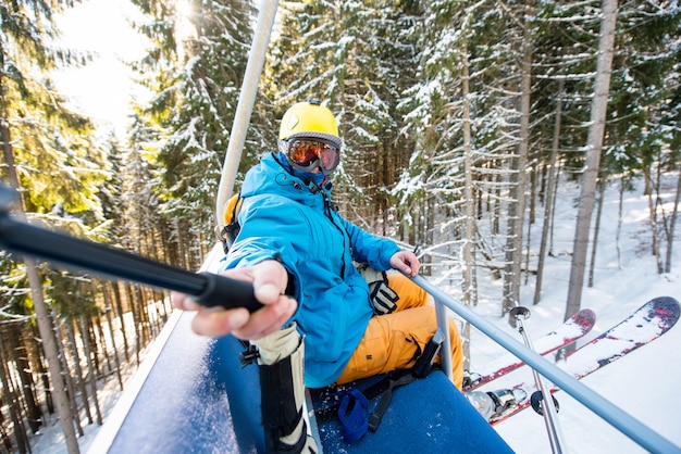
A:
[[[106,179],[101,150],[88,138],[92,126],[70,112],[55,92],[49,71],[84,59],[54,49],[58,33],[53,14],[72,1],[11,2],[0,7],[0,138],[4,172],[14,188],[22,188],[17,211],[101,220],[98,185]],[[69,222],[82,229],[82,223]],[[42,293],[41,278],[33,260],[25,260],[33,308],[50,367],[52,387],[66,445],[78,452],[72,415],[63,388],[55,338]]]

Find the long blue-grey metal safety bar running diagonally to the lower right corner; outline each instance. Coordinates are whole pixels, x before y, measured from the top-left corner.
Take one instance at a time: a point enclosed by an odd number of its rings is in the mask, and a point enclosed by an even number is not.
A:
[[[629,415],[627,412],[593,391],[584,383],[570,376],[565,370],[560,369],[548,360],[544,358],[536,352],[533,352],[528,346],[513,339],[507,332],[500,330],[490,321],[485,320],[482,316],[475,314],[465,304],[456,301],[449,294],[439,290],[437,287],[429,282],[421,276],[416,276],[411,280],[429,292],[435,299],[437,305],[444,305],[457,313],[468,323],[473,325],[480,331],[492,338],[499,345],[522,360],[533,370],[538,371],[544,377],[552,380],[556,386],[560,387],[565,392],[570,394],[582,405],[591,409],[598,415],[610,426],[618,429],[624,436],[629,437],[632,441],[636,442],[642,447],[646,449],[651,453],[671,454],[681,453],[681,447],[677,446],[653,429]],[[438,317],[439,323],[439,317]],[[446,327],[446,321],[444,327]],[[441,326],[442,329],[442,326]],[[445,340],[448,340],[448,329],[443,329]],[[447,356],[447,355],[443,355]],[[450,368],[450,367],[449,367]]]

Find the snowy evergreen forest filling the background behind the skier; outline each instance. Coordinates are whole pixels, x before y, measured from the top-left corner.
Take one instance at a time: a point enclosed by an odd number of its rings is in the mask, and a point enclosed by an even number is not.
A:
[[[152,97],[131,104],[125,139],[102,135],[53,81],[96,58],[54,45],[57,15],[79,2],[0,3],[0,177],[29,224],[198,269],[219,242],[215,196],[260,2],[129,1],[150,42],[129,64]],[[623,197],[645,181],[657,273],[679,266],[678,0],[280,1],[231,191],[276,150],[286,109],[309,99],[339,123],[339,212],[416,249],[423,274],[466,304],[500,315],[541,304],[565,182],[582,191],[566,317],[590,285],[607,186]],[[530,251],[536,219],[542,247]],[[529,275],[534,300],[521,302]],[[500,282],[495,293],[481,276]],[[170,316],[166,297],[0,251],[0,451],[30,452],[57,413],[78,452],[83,425],[102,424],[98,383],[123,388]]]

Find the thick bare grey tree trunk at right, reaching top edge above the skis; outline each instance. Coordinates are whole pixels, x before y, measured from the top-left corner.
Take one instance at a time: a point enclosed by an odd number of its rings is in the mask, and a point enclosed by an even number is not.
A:
[[[589,248],[589,228],[594,209],[596,179],[600,165],[600,150],[605,131],[610,74],[612,72],[612,53],[615,47],[615,25],[617,22],[617,0],[603,0],[603,16],[598,39],[598,58],[596,62],[596,80],[594,97],[591,104],[591,122],[586,143],[586,162],[582,176],[580,205],[577,214],[572,264],[568,285],[568,301],[565,319],[579,312],[584,286],[584,266]]]

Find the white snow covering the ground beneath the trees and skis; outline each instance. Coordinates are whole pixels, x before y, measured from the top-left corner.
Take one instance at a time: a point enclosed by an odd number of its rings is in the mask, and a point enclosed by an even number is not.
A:
[[[573,186],[569,190],[561,191],[561,194],[562,199],[558,201],[556,210],[554,232],[556,256],[549,256],[546,261],[540,304],[532,305],[533,276],[530,277],[530,283],[522,288],[522,302],[532,311],[531,317],[525,320],[525,328],[531,338],[538,338],[557,328],[565,313],[571,260],[568,251],[572,249],[575,224],[573,201],[579,196],[579,189]],[[670,190],[665,200],[672,200],[672,196]],[[600,223],[594,287],[585,288],[582,297],[582,307],[593,310],[597,321],[592,332],[582,339],[580,344],[619,323],[655,297],[669,295],[677,300],[681,299],[681,253],[679,252],[681,235],[677,234],[677,252],[672,262],[672,273],[657,274],[655,257],[651,254],[649,248],[652,235],[648,227],[647,199],[643,196],[641,185],[639,185],[636,191],[626,194],[623,230],[619,244],[622,251],[620,269],[615,240],[617,213],[618,188],[610,187],[606,191],[606,204]],[[540,236],[541,222],[537,222],[532,227],[532,238],[538,240]],[[536,251],[538,247],[533,249],[533,253],[536,254]],[[431,280],[437,281],[435,278]],[[486,286],[487,289],[498,288],[498,294],[500,294],[498,281],[481,281],[479,285]],[[453,294],[457,294],[458,290],[451,290]],[[492,293],[484,290],[481,294]],[[481,301],[474,311],[521,341],[520,335],[508,326],[507,317],[499,316],[500,305],[497,301]],[[486,339],[484,335],[475,329],[472,331],[472,370],[475,370],[476,364],[482,367],[486,362],[506,354],[503,348]],[[653,343],[585,377],[583,382],[661,437],[679,445],[681,451],[681,431],[676,420],[678,408],[681,407],[681,394],[678,393],[678,383],[681,379],[679,345],[681,345],[681,326],[672,328]],[[522,374],[522,371],[516,374]],[[120,395],[114,380],[110,380],[99,395],[106,424],[112,405]],[[565,452],[575,454],[645,452],[565,392],[560,391],[556,396],[560,403],[558,423],[565,442]],[[550,452],[544,419],[531,409],[509,418],[495,428],[519,454]],[[79,443],[82,451],[86,452],[99,427],[90,425],[84,429],[85,437],[79,439]],[[42,434],[34,439],[33,452],[36,454],[66,452],[57,420],[50,421]]]

